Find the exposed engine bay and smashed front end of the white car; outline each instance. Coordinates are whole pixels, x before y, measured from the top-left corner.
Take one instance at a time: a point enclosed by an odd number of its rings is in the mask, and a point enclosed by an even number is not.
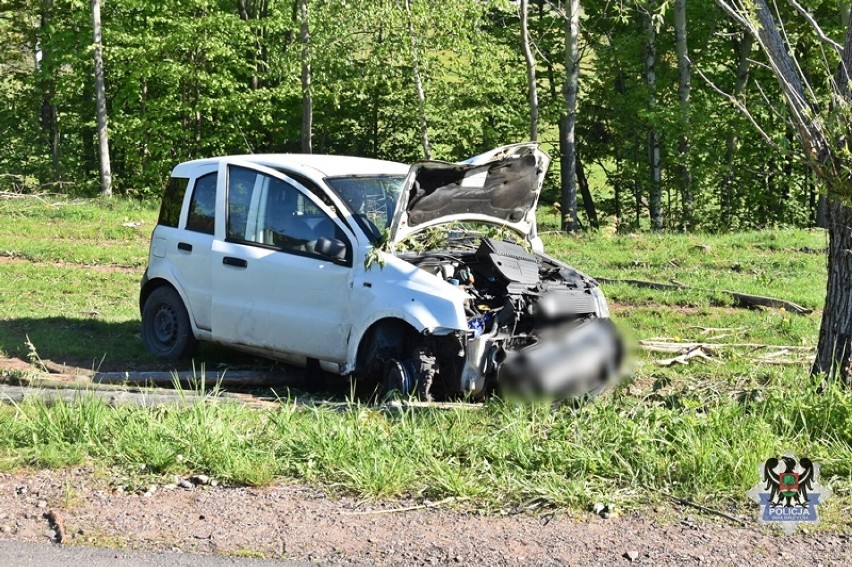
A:
[[[504,240],[396,255],[463,290],[468,330],[435,333],[392,369],[421,394],[592,393],[615,377],[621,343],[597,282]]]

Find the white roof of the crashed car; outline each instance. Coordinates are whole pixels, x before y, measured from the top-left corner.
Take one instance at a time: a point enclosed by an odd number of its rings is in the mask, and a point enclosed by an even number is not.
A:
[[[395,161],[354,157],[332,156],[323,154],[248,154],[235,156],[219,156],[184,162],[175,167],[172,175],[184,176],[197,173],[204,169],[210,171],[212,165],[222,160],[240,160],[273,169],[285,168],[294,172],[314,170],[323,177],[341,175],[405,175],[409,166]],[[204,167],[208,166],[208,167]]]

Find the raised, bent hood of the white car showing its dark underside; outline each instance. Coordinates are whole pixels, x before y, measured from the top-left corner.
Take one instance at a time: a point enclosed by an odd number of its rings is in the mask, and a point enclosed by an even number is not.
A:
[[[415,163],[397,201],[391,246],[452,222],[504,226],[532,241],[549,164],[550,157],[537,143],[503,146],[459,163]]]

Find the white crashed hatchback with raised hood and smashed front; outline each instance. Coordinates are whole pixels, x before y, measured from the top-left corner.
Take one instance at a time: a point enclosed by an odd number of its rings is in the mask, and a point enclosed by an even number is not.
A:
[[[549,161],[517,144],[410,167],[291,154],[182,163],[142,281],[145,345],[177,359],[210,341],[427,398],[598,391],[621,342],[597,283],[543,253],[535,209]],[[490,237],[471,230],[483,225]]]

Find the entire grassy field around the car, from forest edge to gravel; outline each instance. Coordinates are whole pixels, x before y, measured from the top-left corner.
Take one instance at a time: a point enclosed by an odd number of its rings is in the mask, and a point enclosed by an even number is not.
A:
[[[137,307],[155,218],[154,205],[121,200],[0,201],[0,351],[26,360],[35,348],[42,359],[87,367],[156,366],[138,336]],[[742,309],[721,290],[820,309],[822,232],[569,238],[552,223],[543,215],[548,251],[590,275],[698,288],[605,285],[613,318],[637,340],[815,345],[818,311]],[[455,496],[486,509],[636,506],[665,492],[744,511],[758,463],[793,451],[823,464],[836,495],[825,512],[842,528],[852,505],[852,391],[809,377],[806,364],[771,365],[755,360],[760,354],[723,348],[712,360],[664,368],[657,361],[671,355],[639,351],[616,392],[559,407],[5,405],[0,469],[88,463],[140,487],[147,475],[206,473],[253,485],[284,477],[365,497]],[[239,360],[229,357],[201,352],[208,368]]]

